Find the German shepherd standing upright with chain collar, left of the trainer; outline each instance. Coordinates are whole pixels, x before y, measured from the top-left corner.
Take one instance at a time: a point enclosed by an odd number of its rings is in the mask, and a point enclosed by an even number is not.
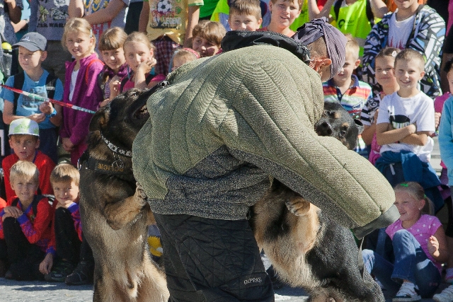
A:
[[[81,222],[95,260],[96,302],[168,300],[165,274],[147,251],[147,226],[155,221],[134,180],[130,151],[149,118],[151,93],[132,89],[98,110],[79,161]]]

